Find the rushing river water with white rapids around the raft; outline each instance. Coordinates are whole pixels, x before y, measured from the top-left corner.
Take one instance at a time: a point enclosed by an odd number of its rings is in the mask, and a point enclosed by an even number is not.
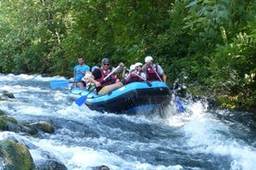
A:
[[[187,113],[170,107],[152,115],[98,113],[67,97],[69,88],[50,88],[63,77],[0,74],[0,91],[15,99],[0,110],[19,122],[49,121],[54,134],[39,138],[1,132],[26,145],[35,163],[49,157],[69,170],[105,164],[111,170],[256,169],[256,128],[251,113],[210,109],[204,101],[186,101]]]

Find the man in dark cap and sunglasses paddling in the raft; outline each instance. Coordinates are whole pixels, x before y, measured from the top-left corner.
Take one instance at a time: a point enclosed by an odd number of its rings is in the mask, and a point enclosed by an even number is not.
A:
[[[108,79],[105,79],[114,67],[110,67],[109,58],[103,58],[101,61],[101,67],[96,68],[88,80],[96,85],[97,94],[106,94],[110,91],[118,89],[123,86],[122,82],[119,81],[117,73],[122,70],[124,64],[121,62],[119,68],[109,76]]]

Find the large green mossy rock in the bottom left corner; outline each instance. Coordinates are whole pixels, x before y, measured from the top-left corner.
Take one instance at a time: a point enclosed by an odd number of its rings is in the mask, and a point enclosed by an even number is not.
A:
[[[34,170],[35,165],[29,150],[20,142],[14,140],[0,141],[0,157],[5,170]]]

